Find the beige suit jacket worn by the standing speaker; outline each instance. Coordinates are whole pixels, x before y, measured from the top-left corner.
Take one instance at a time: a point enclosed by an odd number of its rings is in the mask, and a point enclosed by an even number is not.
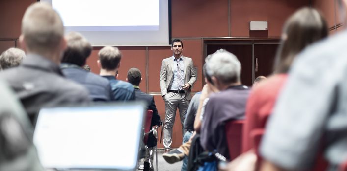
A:
[[[185,91],[186,99],[191,99],[191,87],[196,81],[196,71],[194,69],[193,60],[189,57],[182,56],[182,61],[184,63],[184,84],[189,83],[191,86]],[[161,70],[160,70],[160,89],[161,96],[166,95],[168,88],[171,87],[173,72],[175,68],[175,63],[173,57],[169,57],[162,60]]]

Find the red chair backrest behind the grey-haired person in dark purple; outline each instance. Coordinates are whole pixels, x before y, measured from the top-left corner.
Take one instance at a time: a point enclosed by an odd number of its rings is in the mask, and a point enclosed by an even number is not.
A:
[[[225,134],[227,138],[230,160],[233,160],[242,152],[243,124],[243,120],[230,120],[225,123]]]

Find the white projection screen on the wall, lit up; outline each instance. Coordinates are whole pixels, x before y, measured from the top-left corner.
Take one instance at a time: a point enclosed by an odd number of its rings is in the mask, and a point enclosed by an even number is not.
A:
[[[93,46],[169,44],[169,0],[41,0]]]

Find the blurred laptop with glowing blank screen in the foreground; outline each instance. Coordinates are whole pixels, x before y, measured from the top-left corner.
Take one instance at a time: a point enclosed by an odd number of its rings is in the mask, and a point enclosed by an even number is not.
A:
[[[138,102],[43,108],[33,142],[47,169],[134,171],[144,114]]]

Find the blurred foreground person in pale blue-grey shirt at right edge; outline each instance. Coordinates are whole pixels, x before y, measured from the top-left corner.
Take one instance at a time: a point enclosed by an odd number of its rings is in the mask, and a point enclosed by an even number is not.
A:
[[[347,0],[337,2],[346,19]],[[318,18],[316,14],[302,22],[311,23],[308,26],[315,32],[312,21]],[[314,34],[320,37],[322,33]],[[329,171],[338,171],[347,160],[346,44],[344,30],[295,58],[260,145],[265,160],[262,171],[311,171],[320,150]]]

